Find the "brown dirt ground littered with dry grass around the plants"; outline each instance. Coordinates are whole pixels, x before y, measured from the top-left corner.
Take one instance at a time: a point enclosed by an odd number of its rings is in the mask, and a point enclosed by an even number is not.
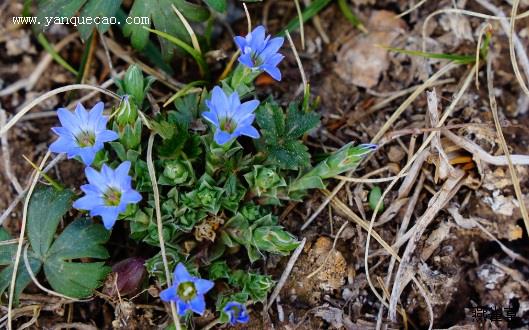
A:
[[[254,306],[248,328],[371,329],[379,319],[388,329],[427,329],[432,321],[434,328],[529,328],[529,239],[520,211],[521,202],[529,206],[529,170],[527,166],[515,166],[522,190],[520,201],[509,167],[494,165],[486,157],[506,159],[491,112],[486,63],[481,61],[479,67],[479,89],[473,66],[456,65],[427,88],[435,90],[430,102],[426,92],[420,92],[393,124],[385,127],[413,91],[448,62],[390,52],[381,46],[421,50],[424,42],[428,52],[475,55],[480,31],[489,22],[493,93],[502,131],[511,154],[529,155],[529,97],[524,96],[515,77],[509,39],[499,21],[452,12],[433,16],[424,27],[427,17],[439,9],[457,7],[487,15],[501,16],[503,12],[508,16],[511,6],[500,0],[426,1],[397,19],[394,15],[409,9],[410,2],[352,0],[351,3],[368,33],[354,28],[338,6],[332,4],[304,25],[304,49],[299,33],[293,35],[311,91],[320,100],[322,115],[322,126],[307,141],[311,150],[318,153],[349,141],[367,143],[383,132],[376,141],[379,150],[353,177],[390,179],[378,183],[348,182],[330,203],[326,193],[320,191],[303,203],[278,208],[282,224],[307,241],[280,299],[267,313],[263,312],[263,306]],[[8,18],[19,15],[20,4],[6,2],[0,3],[0,7],[3,9],[0,104],[12,116],[25,102],[43,92],[74,83],[74,77],[51,61],[32,86],[2,93],[21,79],[31,77],[43,61],[45,51],[29,28],[10,24]],[[527,10],[529,1],[521,1],[518,12]],[[255,24],[266,18],[268,29],[279,31],[295,16],[295,7],[289,1],[267,0],[265,4],[250,6],[250,12]],[[232,28],[235,33],[243,33],[246,21],[243,16],[237,17],[231,23]],[[69,27],[57,27],[49,31],[48,38],[57,43],[72,31]],[[529,18],[516,21],[516,33],[527,60]],[[230,35],[219,36],[218,48],[231,55]],[[75,66],[82,49],[75,40],[61,50],[61,55]],[[302,89],[295,57],[288,46],[283,53],[286,55],[281,65],[283,81],[261,86],[259,94],[265,97],[272,93],[286,103],[300,97]],[[175,79],[184,82],[193,72],[191,65],[178,66],[180,61],[175,60],[175,67],[187,69],[178,72]],[[527,84],[529,72],[524,71],[523,56],[518,63]],[[118,58],[113,64],[117,70],[126,67]],[[101,84],[109,79],[105,66],[105,58],[97,52],[86,83]],[[464,87],[469,76],[470,83]],[[461,90],[464,93],[456,98]],[[163,103],[167,90],[157,83],[153,94],[157,102]],[[68,94],[52,97],[32,113],[53,110],[76,97]],[[432,100],[438,103],[433,107],[435,111],[431,108]],[[447,110],[451,113],[443,119],[445,129],[430,129]],[[32,160],[42,157],[52,139],[49,128],[55,122],[53,116],[30,118],[10,131],[10,171],[22,187],[31,171],[22,155]],[[435,133],[432,142],[424,152],[418,152],[432,132]],[[2,157],[5,160],[6,155],[2,153]],[[366,229],[373,214],[368,205],[369,191],[374,185],[384,191],[391,177],[398,175],[410,159],[414,161],[406,171],[406,178],[398,180],[385,196],[384,210],[376,217],[373,233],[368,236]],[[80,170],[73,162],[61,162],[53,174],[73,185],[79,181]],[[0,173],[3,187],[0,209],[5,210],[17,191],[4,161],[0,162]],[[338,182],[332,182],[328,191],[333,191]],[[301,230],[322,203],[328,205]],[[18,205],[4,222],[13,232],[18,229],[20,210]],[[117,240],[117,235],[113,234],[111,242]],[[392,257],[389,246],[401,260]],[[270,257],[255,267],[279,279],[288,261],[288,257]],[[394,299],[389,305],[397,317],[388,317],[391,313],[387,307],[382,308],[371,286],[381,297]],[[30,287],[23,299],[39,301],[43,295]],[[108,328],[114,320],[127,319],[129,328],[150,328],[165,316],[159,306],[149,309],[134,304],[111,304],[101,298],[90,303],[50,303],[41,312],[40,327],[79,322]],[[503,317],[496,320],[480,317],[479,312],[485,306],[499,309]],[[508,316],[508,312],[512,315]],[[20,318],[20,324],[30,318]],[[206,324],[207,318],[206,315],[198,319],[197,324]]]

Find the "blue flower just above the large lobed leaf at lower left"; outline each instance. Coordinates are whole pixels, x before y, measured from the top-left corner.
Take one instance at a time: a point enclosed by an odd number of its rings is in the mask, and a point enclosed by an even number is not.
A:
[[[101,172],[87,167],[85,174],[89,184],[81,186],[85,195],[76,200],[73,207],[89,210],[92,217],[101,216],[105,228],[110,230],[127,205],[141,200],[141,195],[132,189],[129,170],[129,161],[121,163],[115,170],[106,164]]]

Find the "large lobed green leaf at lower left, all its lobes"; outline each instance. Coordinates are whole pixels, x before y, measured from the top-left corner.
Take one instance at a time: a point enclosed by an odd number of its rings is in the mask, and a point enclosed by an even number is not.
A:
[[[73,261],[109,257],[103,244],[110,233],[102,225],[77,219],[55,238],[59,222],[71,208],[72,197],[71,191],[58,191],[52,187],[37,188],[31,196],[27,216],[29,246],[26,246],[18,265],[15,301],[31,282],[26,260],[35,276],[43,269],[53,290],[74,298],[90,296],[110,272],[104,262]],[[10,239],[3,229],[0,230],[0,239]],[[16,245],[0,245],[0,264],[6,266],[0,272],[0,293],[9,287],[16,250]]]

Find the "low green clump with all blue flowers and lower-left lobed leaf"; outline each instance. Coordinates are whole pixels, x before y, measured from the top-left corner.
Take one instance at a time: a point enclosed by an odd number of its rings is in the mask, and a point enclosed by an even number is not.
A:
[[[59,138],[50,150],[86,165],[88,184],[81,186],[82,195],[49,186],[31,197],[29,266],[19,267],[17,294],[31,281],[28,268],[34,274],[43,268],[55,291],[76,298],[91,295],[110,269],[102,262],[74,259],[106,259],[103,244],[118,221],[139,244],[159,248],[162,233],[167,263],[174,269],[171,286],[161,251],[145,267],[165,287],[160,298],[175,302],[180,316],[202,314],[207,302],[215,301],[219,323],[248,321],[246,306],[263,302],[275,283],[252,264],[267,254],[288,255],[299,245],[279,222],[281,205],[324,188],[326,179],[354,169],[376,146],[349,143],[312,165],[304,139],[318,126],[319,116],[310,96],[286,109],[272,97],[256,97],[258,75],[281,79],[277,66],[283,38],[266,36],[257,27],[235,41],[241,57],[233,72],[209,91],[177,98],[173,110],[146,114],[152,80],[136,66],[117,82],[122,98],[110,117],[103,115],[102,103],[90,111],[80,104],[73,113],[58,110],[61,127],[53,130]],[[152,150],[149,139],[154,139]],[[151,157],[156,182],[150,176]],[[84,217],[55,238],[72,205]],[[104,227],[96,224],[99,218]],[[9,239],[5,232],[0,235]],[[15,250],[0,246],[0,263],[7,265],[0,272],[2,291],[9,284]],[[131,260],[133,266],[117,268],[137,285],[143,273],[130,273],[142,259]],[[120,287],[129,291],[123,281]]]

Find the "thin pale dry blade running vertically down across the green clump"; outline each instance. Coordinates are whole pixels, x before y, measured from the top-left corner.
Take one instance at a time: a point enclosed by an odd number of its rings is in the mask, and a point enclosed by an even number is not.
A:
[[[158,180],[156,179],[156,172],[154,170],[154,164],[152,161],[152,146],[154,142],[154,133],[149,136],[147,142],[147,169],[149,171],[149,177],[151,179],[152,190],[154,195],[154,210],[156,213],[156,226],[158,227],[158,238],[160,240],[160,253],[162,254],[163,267],[165,270],[165,277],[167,287],[171,286],[171,271],[169,270],[169,263],[167,262],[167,253],[165,252],[165,242],[163,237],[163,224],[162,224],[162,212],[160,210],[160,192],[158,191]],[[171,302],[171,313],[173,315],[173,322],[176,330],[181,330],[180,318],[176,313],[176,306],[174,302]]]

